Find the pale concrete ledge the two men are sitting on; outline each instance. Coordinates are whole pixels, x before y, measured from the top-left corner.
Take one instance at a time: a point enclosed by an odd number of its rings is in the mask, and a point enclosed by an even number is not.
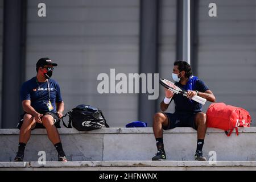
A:
[[[151,127],[104,128],[93,131],[59,129],[64,151],[69,161],[144,161],[156,153],[155,138]],[[217,160],[254,161],[256,159],[256,127],[240,128],[226,137],[223,130],[208,129],[204,155],[216,152]],[[18,129],[0,129],[0,162],[13,161],[18,150]],[[196,131],[176,128],[164,131],[167,160],[193,160],[196,150]],[[32,131],[25,150],[24,160],[36,162],[39,151],[46,152],[47,161],[56,161],[57,152],[48,140],[45,129]],[[211,153],[212,154],[212,153]]]

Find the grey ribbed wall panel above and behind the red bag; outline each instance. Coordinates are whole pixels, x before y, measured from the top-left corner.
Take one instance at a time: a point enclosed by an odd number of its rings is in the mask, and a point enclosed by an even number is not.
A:
[[[210,2],[217,17],[208,16]],[[216,102],[240,106],[256,118],[256,1],[200,1],[199,76]],[[209,104],[208,104],[209,105]],[[204,107],[207,109],[207,107]]]

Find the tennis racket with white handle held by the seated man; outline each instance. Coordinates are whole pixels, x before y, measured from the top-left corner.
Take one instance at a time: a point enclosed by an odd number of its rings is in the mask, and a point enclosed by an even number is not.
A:
[[[164,86],[164,88],[167,88],[168,90],[171,90],[175,94],[181,94],[185,97],[187,97],[187,90],[183,90],[179,88],[179,86],[176,86],[173,82],[166,80],[164,78],[160,78],[159,83]],[[207,101],[205,98],[200,96],[194,96],[192,97],[193,101],[199,102],[200,104],[204,105]]]

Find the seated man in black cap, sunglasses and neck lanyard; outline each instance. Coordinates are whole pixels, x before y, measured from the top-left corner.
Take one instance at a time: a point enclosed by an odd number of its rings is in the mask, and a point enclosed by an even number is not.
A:
[[[56,129],[59,127],[60,118],[63,117],[64,102],[60,94],[60,86],[50,79],[56,63],[48,57],[36,63],[37,75],[24,82],[20,89],[20,98],[24,114],[17,127],[20,129],[19,149],[15,161],[23,161],[24,149],[30,139],[31,130],[46,128],[48,138],[58,152],[58,161],[66,162],[66,156]]]

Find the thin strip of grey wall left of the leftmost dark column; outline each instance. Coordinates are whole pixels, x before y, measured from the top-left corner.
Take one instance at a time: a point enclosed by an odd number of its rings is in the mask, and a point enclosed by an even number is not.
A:
[[[0,0],[0,118],[2,111],[3,0]],[[0,119],[1,126],[2,119]]]

